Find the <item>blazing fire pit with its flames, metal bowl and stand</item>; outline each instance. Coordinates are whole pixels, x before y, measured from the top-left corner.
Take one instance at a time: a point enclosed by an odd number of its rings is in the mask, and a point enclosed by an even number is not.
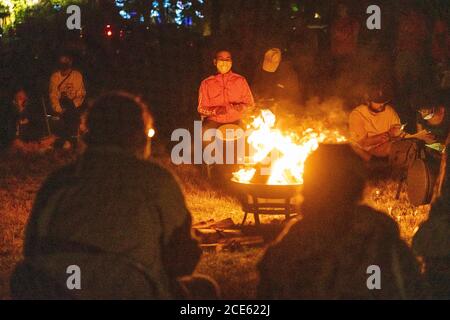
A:
[[[245,213],[242,224],[249,213],[254,214],[256,224],[260,223],[260,214],[285,215],[289,219],[299,213],[308,156],[327,138],[345,141],[345,137],[312,128],[298,132],[281,130],[277,128],[275,115],[264,109],[248,128],[250,152],[231,179]]]

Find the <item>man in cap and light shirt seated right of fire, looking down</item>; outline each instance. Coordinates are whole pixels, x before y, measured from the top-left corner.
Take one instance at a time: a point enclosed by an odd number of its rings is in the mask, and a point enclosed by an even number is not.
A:
[[[426,140],[430,134],[425,130],[415,135],[403,131],[400,117],[384,90],[374,86],[367,94],[367,103],[355,108],[349,117],[349,130],[354,150],[366,161],[387,158],[392,144],[399,139]]]

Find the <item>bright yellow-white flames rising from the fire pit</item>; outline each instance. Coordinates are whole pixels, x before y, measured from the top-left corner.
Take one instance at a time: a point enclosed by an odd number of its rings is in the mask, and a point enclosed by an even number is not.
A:
[[[234,179],[249,183],[256,175],[255,166],[266,168],[262,175],[269,175],[267,184],[303,184],[303,171],[308,156],[322,142],[342,143],[346,138],[338,131],[323,130],[317,132],[312,128],[296,132],[282,132],[275,128],[276,117],[270,110],[261,110],[261,114],[248,126],[250,156],[247,167],[233,173]]]

